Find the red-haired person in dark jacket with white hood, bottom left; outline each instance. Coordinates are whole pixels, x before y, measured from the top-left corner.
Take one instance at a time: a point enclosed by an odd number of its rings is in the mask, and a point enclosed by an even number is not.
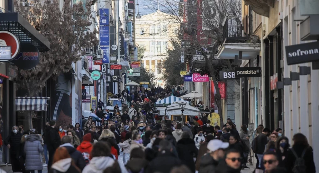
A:
[[[65,147],[59,147],[53,157],[53,164],[48,173],[81,173],[81,170],[72,161]]]

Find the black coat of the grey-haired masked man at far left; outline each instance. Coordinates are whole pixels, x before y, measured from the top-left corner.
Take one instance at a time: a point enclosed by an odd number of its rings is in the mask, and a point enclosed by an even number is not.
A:
[[[7,146],[8,144],[10,144],[11,157],[15,156],[17,159],[19,158],[21,138],[22,138],[21,133],[18,132],[17,134],[14,134],[13,132],[11,132],[11,134],[5,139],[4,145]]]

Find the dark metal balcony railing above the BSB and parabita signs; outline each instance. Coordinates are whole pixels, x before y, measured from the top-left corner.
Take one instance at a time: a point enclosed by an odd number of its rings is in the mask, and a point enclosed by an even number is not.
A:
[[[244,20],[246,20],[244,18]],[[245,42],[248,40],[247,34],[244,34],[242,19],[237,17],[225,17],[223,25],[223,40],[225,43]]]

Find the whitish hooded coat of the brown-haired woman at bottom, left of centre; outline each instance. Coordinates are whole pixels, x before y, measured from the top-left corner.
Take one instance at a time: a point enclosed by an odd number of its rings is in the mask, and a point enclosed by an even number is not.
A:
[[[115,160],[108,156],[93,157],[82,173],[103,173],[104,169],[113,166],[114,162]],[[119,165],[122,173],[128,173],[122,163],[119,162]]]

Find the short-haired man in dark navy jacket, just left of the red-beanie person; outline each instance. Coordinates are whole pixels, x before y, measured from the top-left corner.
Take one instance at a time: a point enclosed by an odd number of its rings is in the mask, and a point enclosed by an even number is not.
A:
[[[80,169],[83,170],[86,163],[84,158],[82,157],[82,153],[79,152],[74,146],[72,145],[73,138],[71,136],[63,136],[61,139],[62,145],[60,147],[65,147],[68,150],[71,158],[73,159],[75,165]]]

